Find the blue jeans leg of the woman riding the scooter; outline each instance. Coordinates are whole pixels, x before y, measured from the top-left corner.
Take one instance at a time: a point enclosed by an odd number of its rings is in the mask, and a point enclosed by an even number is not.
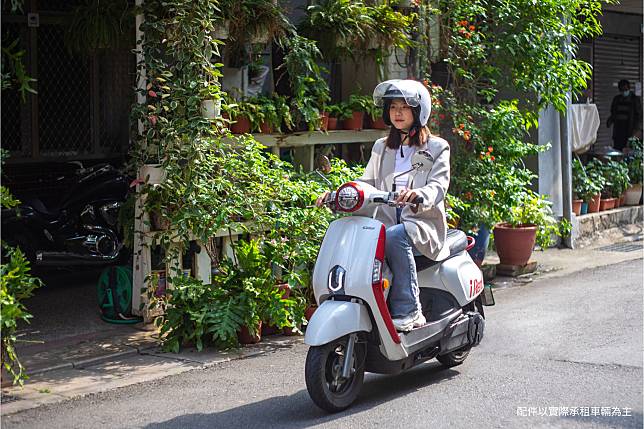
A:
[[[385,257],[393,273],[389,291],[391,317],[405,317],[421,310],[414,246],[402,224],[387,228]]]

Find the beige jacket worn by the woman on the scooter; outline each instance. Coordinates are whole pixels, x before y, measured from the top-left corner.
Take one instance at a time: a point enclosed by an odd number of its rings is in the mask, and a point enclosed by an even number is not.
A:
[[[396,166],[396,150],[389,149],[385,140],[376,141],[364,174],[358,180],[389,192]],[[429,172],[410,173],[407,188],[423,197],[424,202],[416,213],[405,207],[400,218],[416,249],[428,258],[440,261],[449,256],[449,249],[444,246],[447,236],[444,199],[450,178],[449,145],[444,139],[431,136],[417,148],[421,149],[428,150],[434,157],[434,165]],[[386,227],[395,225],[395,207],[380,206],[376,218]]]

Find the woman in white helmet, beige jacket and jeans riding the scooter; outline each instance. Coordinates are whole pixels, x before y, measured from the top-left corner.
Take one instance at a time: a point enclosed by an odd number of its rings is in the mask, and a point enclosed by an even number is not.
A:
[[[383,107],[383,119],[391,129],[387,137],[375,142],[364,174],[357,180],[382,191],[399,192],[399,206],[381,207],[376,219],[387,227],[385,255],[393,273],[389,310],[396,329],[405,332],[425,324],[414,255],[433,260],[449,256],[444,246],[444,199],[450,181],[450,151],[448,143],[427,128],[431,98],[422,83],[382,82],[376,86],[373,100]],[[419,150],[428,151],[434,162],[420,186],[414,176],[405,173],[412,169],[411,158]],[[324,204],[327,194],[318,197],[318,206]],[[417,197],[423,198],[417,207],[406,204]]]

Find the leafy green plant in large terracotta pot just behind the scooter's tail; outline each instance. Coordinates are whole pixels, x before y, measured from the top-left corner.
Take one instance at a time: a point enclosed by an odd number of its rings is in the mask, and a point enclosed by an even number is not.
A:
[[[517,198],[506,222],[494,227],[494,244],[501,264],[523,266],[528,263],[535,243],[542,249],[552,244],[553,235],[562,236],[552,203],[526,190]]]

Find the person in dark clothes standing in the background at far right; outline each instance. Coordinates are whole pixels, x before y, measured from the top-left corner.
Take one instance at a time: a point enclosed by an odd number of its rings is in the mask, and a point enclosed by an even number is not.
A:
[[[613,147],[623,150],[628,139],[640,129],[642,105],[639,97],[631,91],[629,81],[620,80],[617,88],[620,93],[613,98],[606,126],[610,128],[613,125]]]

